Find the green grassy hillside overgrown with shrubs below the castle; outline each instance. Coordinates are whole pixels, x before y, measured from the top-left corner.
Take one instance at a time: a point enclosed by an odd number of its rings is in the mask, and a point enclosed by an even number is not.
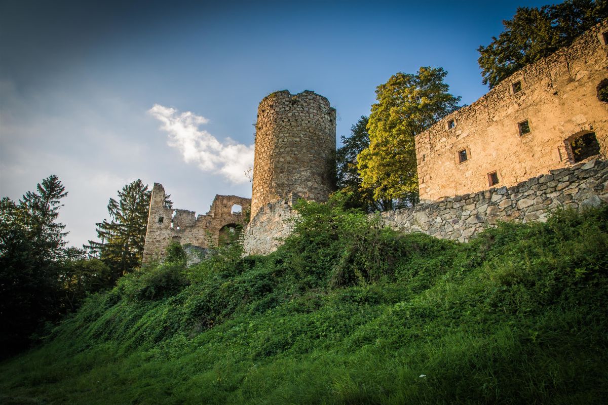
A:
[[[124,277],[0,366],[4,404],[604,404],[608,208],[471,243],[300,207],[277,252]]]

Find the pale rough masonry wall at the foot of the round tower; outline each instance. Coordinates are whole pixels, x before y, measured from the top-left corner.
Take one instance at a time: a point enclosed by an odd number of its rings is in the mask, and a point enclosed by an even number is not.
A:
[[[292,205],[298,196],[290,194],[286,199],[276,200],[261,207],[243,230],[243,248],[246,254],[268,254],[282,244],[280,240],[288,237],[293,226],[290,219],[297,215]]]

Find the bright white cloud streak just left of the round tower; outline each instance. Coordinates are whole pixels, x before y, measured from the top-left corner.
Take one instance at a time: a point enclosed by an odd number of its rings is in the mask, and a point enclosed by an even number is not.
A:
[[[181,114],[174,108],[159,104],[148,110],[161,121],[161,129],[168,132],[168,145],[177,148],[186,163],[196,163],[203,171],[224,175],[232,183],[246,183],[244,172],[254,164],[254,145],[242,145],[230,138],[224,143],[212,134],[199,129],[207,118],[190,111]]]

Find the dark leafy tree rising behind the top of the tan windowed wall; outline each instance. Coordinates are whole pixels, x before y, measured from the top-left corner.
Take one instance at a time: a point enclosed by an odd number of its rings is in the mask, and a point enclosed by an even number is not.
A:
[[[567,0],[561,4],[519,7],[505,30],[480,46],[479,67],[483,84],[490,88],[527,64],[551,55],[608,17],[606,0]]]

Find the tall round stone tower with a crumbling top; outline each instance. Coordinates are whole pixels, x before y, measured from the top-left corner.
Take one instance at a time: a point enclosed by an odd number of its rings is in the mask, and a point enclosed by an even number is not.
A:
[[[335,191],[336,109],[311,91],[274,92],[261,101],[255,125],[251,217],[294,192],[326,201]]]

